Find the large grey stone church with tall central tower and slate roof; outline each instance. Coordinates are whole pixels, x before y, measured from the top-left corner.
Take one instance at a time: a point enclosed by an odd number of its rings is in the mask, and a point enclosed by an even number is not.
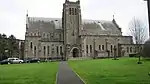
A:
[[[62,18],[26,15],[25,58],[128,56],[132,36],[123,36],[115,19],[82,19],[80,0],[66,0]],[[128,52],[127,52],[128,51]],[[135,53],[135,52],[134,52]]]

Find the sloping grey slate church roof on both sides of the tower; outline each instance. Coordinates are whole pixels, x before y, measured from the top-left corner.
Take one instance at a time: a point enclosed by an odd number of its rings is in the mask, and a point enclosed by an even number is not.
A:
[[[29,17],[29,32],[53,32],[62,29],[61,18],[43,18],[43,17]],[[88,20],[82,21],[82,34],[121,34],[119,29],[112,21],[105,20]],[[61,31],[60,31],[61,32]]]

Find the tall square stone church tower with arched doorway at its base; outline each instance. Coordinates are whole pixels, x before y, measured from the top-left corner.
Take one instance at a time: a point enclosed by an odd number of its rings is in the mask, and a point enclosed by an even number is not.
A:
[[[64,48],[66,57],[80,56],[81,9],[80,0],[63,4],[62,25],[64,29]]]

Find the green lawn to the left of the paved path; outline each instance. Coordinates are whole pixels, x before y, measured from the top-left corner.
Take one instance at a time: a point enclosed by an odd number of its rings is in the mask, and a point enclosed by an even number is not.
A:
[[[0,84],[55,84],[57,62],[0,65]]]

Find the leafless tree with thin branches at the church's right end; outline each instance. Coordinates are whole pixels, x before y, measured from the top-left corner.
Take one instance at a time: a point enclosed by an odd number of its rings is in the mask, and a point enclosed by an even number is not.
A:
[[[133,18],[129,23],[130,35],[135,44],[143,44],[146,40],[146,25],[140,20]]]

